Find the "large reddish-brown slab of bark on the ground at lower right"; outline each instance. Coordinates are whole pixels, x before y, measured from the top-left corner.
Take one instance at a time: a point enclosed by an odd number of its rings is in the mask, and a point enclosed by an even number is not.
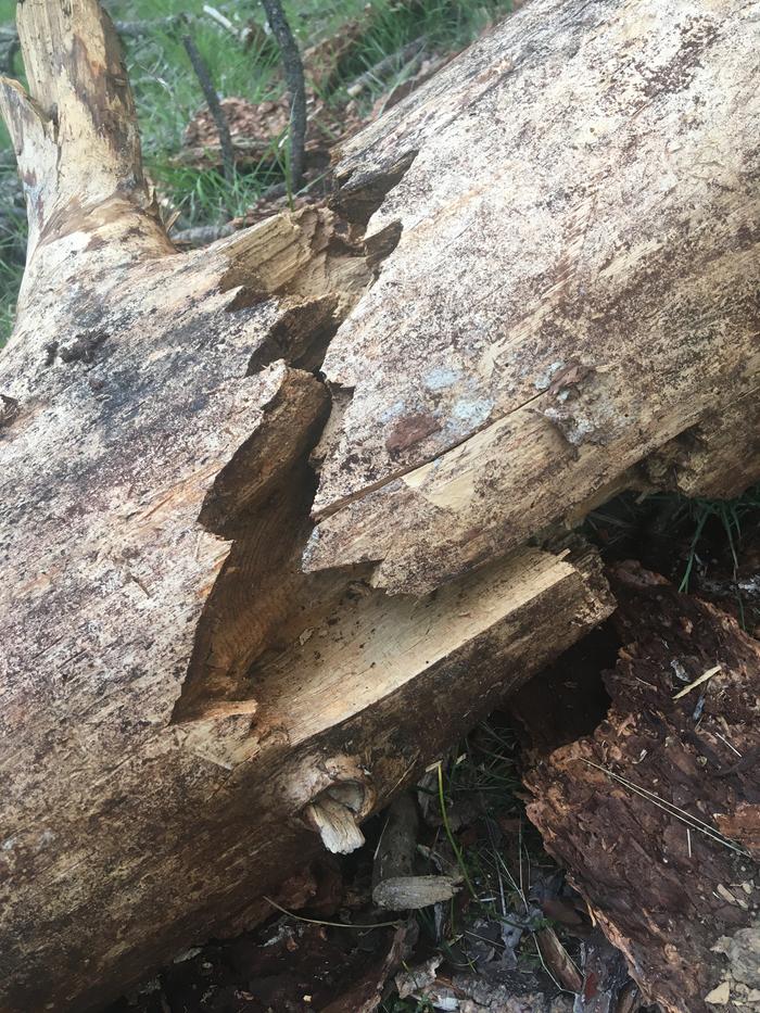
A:
[[[719,940],[742,938],[760,903],[760,644],[633,565],[613,587],[626,646],[607,678],[612,707],[529,773],[528,812],[644,996],[706,1013],[725,980]]]

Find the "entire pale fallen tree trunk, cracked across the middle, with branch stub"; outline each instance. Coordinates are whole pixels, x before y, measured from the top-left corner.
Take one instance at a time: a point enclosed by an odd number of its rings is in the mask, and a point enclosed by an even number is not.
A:
[[[531,536],[760,473],[752,7],[529,7],[331,211],[179,254],[107,17],[20,4],[3,1009],[97,1006],[356,846],[611,609]]]

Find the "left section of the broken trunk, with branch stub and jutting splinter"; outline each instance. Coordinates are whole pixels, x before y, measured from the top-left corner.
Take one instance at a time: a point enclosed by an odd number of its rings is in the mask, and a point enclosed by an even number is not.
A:
[[[357,819],[610,604],[582,553],[521,550],[428,599],[389,599],[362,567],[305,577],[329,396],[287,362],[318,362],[389,243],[308,211],[176,254],[97,4],[27,0],[20,23],[0,1006],[26,1013],[97,1005],[261,915],[315,824],[332,841],[337,812],[360,839]]]

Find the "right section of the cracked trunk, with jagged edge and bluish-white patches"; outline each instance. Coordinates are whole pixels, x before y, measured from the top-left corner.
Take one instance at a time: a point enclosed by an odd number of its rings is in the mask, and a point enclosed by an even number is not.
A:
[[[660,485],[757,479],[758,73],[757,2],[543,0],[346,144],[346,206],[414,161],[325,362],[350,398],[309,568],[429,591],[669,440]]]

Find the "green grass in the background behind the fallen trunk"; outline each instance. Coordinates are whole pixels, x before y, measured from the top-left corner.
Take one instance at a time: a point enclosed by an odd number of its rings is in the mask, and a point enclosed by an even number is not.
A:
[[[256,0],[220,2],[217,9],[236,25],[256,23],[264,15]],[[325,38],[335,37],[362,16],[364,34],[344,61],[329,90],[318,98],[340,110],[347,85],[372,68],[384,56],[397,53],[413,39],[425,36],[428,49],[449,51],[465,46],[490,21],[510,9],[510,0],[286,0],[293,31],[302,50]],[[191,17],[190,33],[205,59],[212,79],[223,97],[239,96],[251,102],[280,98],[284,83],[279,52],[263,33],[249,48],[202,13],[203,0],[106,0],[116,21],[156,21],[179,13]],[[0,25],[15,16],[14,0],[0,0]],[[204,106],[198,80],[181,43],[180,31],[161,28],[138,39],[126,38],[127,68],[135,91],[145,168],[154,182],[167,216],[179,212],[177,227],[214,225],[242,215],[261,194],[287,174],[286,138],[275,138],[271,150],[258,164],[241,166],[227,182],[220,170],[183,163],[182,135],[188,122]],[[384,80],[371,81],[360,100],[367,112],[377,97],[403,75],[401,62]],[[14,73],[23,79],[16,56]],[[14,182],[13,159],[8,134],[0,130],[0,201]],[[0,218],[0,345],[10,333],[16,292],[21,281],[18,250],[24,244],[24,223],[17,214],[10,223]]]

